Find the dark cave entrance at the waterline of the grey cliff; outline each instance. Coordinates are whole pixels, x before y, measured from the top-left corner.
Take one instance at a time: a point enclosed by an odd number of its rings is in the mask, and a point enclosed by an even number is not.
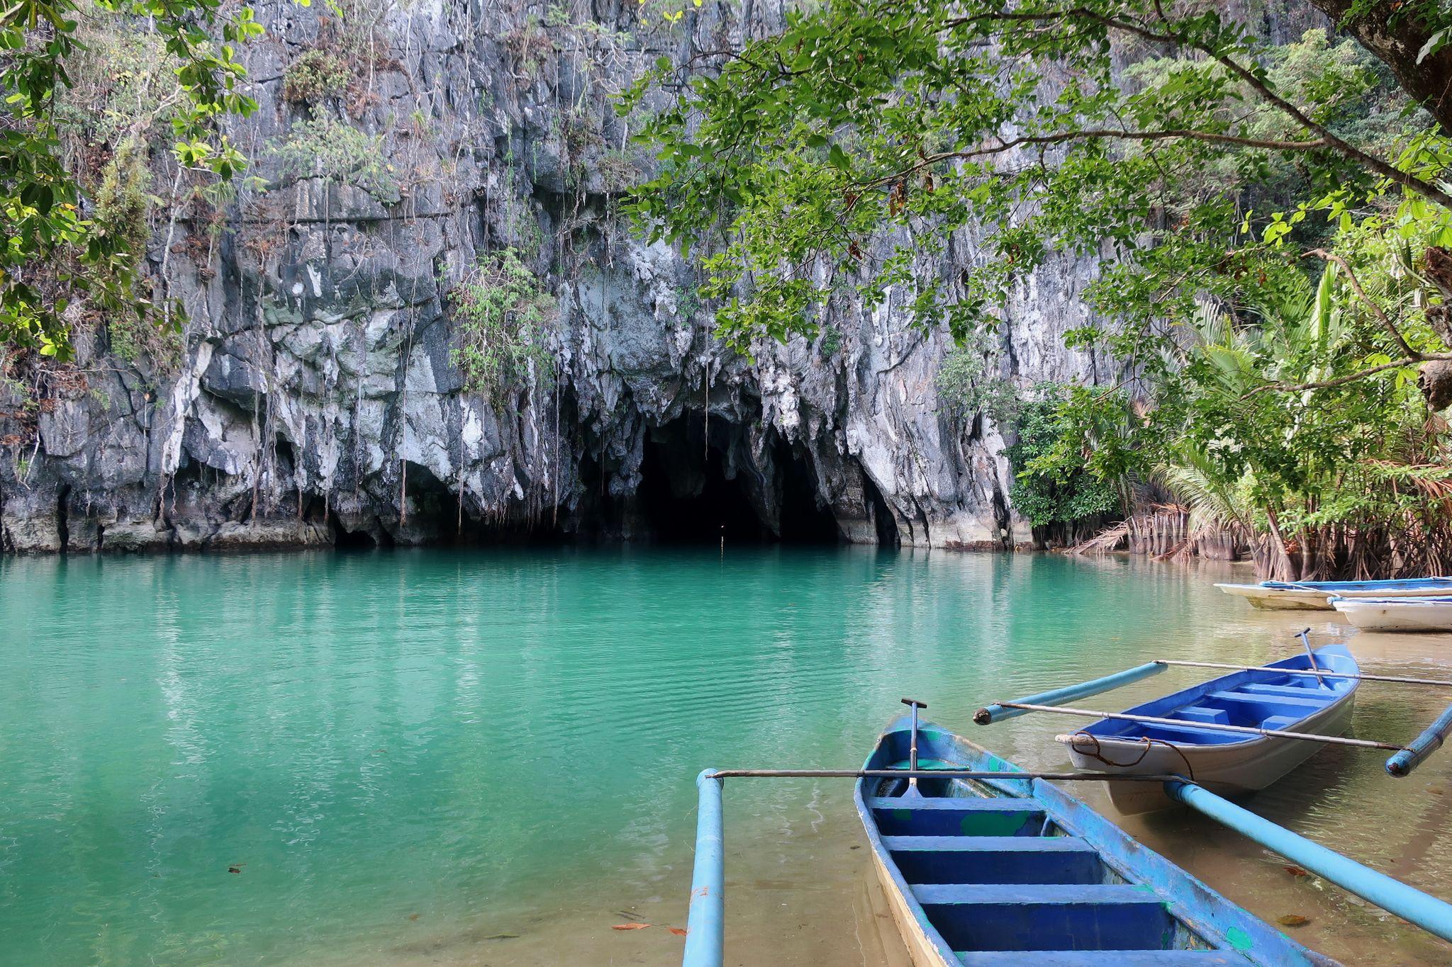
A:
[[[681,544],[838,544],[831,509],[817,505],[807,457],[775,438],[758,468],[741,426],[691,413],[646,433],[637,528]],[[732,460],[732,455],[738,460]]]

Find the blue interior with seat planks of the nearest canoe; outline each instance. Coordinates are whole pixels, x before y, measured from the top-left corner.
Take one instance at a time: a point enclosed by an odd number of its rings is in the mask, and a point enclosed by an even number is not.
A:
[[[998,768],[919,739],[919,768]],[[906,768],[908,732],[884,736],[870,768]],[[934,755],[945,755],[934,758]],[[1011,768],[1006,764],[1003,768]],[[1166,896],[1056,822],[1027,780],[861,780],[861,805],[939,953],[971,967],[1247,964],[1215,948]],[[1122,835],[1122,834],[1119,834]],[[947,950],[944,951],[942,947]]]

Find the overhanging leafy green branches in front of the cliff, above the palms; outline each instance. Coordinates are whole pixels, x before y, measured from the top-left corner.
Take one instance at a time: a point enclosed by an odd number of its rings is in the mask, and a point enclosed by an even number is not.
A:
[[[1446,204],[1435,177],[1337,133],[1346,99],[1285,84],[1268,45],[1214,9],[1178,9],[835,0],[793,13],[783,33],[716,54],[713,74],[682,81],[661,64],[637,86],[678,97],[645,135],[664,170],[635,210],[700,254],[720,329],[746,348],[810,332],[833,293],[871,304],[890,286],[912,293],[919,322],[961,336],[1053,249],[1114,249],[1147,294],[1194,291],[1241,220],[1233,197],[1186,178],[1214,165],[1291,158],[1320,194],[1390,181]],[[1124,57],[1163,67],[1127,83]],[[947,241],[980,225],[987,258],[944,278]]]

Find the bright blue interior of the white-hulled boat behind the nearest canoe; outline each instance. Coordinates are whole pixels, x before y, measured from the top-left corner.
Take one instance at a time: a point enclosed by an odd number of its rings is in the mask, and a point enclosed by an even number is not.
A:
[[[1329,649],[1317,652],[1321,668],[1347,671],[1347,668],[1340,667],[1339,655],[1327,652]],[[1310,670],[1305,655],[1279,661],[1276,665],[1288,670]],[[1345,699],[1355,686],[1353,678],[1240,671],[1128,709],[1131,715],[1182,721],[1183,726],[1101,719],[1082,729],[1082,734],[1098,738],[1150,738],[1182,745],[1246,742],[1259,736],[1196,728],[1196,725],[1240,725],[1294,731],[1298,722]]]

